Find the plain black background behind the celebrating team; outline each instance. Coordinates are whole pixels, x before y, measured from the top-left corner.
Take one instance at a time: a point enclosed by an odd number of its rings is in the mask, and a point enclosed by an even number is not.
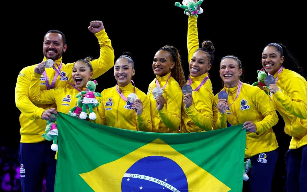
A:
[[[2,15],[2,50],[5,50],[2,72],[11,77],[4,89],[9,88],[8,92],[14,95],[20,70],[42,61],[43,37],[50,29],[58,29],[66,36],[67,51],[63,54],[63,63],[87,56],[98,58],[98,41],[87,29],[92,20],[103,22],[112,41],[115,60],[124,51],[132,53],[135,63],[133,80],[143,92],[147,92],[148,84],[155,77],[152,70],[154,54],[164,45],[173,45],[179,50],[187,79],[188,16],[183,14],[184,9],[175,7],[174,3],[168,0],[72,2],[65,7],[59,2],[50,2],[46,5],[38,3],[35,8],[28,8],[28,4],[12,5],[8,10],[10,14]],[[259,3],[262,4],[220,1],[204,1],[201,4],[204,13],[199,14],[198,18],[199,41],[211,40],[216,48],[215,60],[209,71],[214,94],[222,88],[218,70],[223,56],[239,57],[243,64],[243,82],[252,84],[258,81],[257,70],[262,69],[262,49],[272,42],[286,45],[294,57],[304,64],[306,73],[304,6],[292,2]],[[6,78],[3,77],[3,80]],[[96,91],[114,86],[113,68],[96,80],[99,84]],[[20,111],[15,106],[13,96],[4,98],[6,108],[2,109],[1,115],[2,131],[5,133],[2,135],[3,145],[18,148]],[[273,129],[280,146],[273,187],[282,191],[285,183],[283,155],[289,146],[290,136],[284,133],[281,117]]]

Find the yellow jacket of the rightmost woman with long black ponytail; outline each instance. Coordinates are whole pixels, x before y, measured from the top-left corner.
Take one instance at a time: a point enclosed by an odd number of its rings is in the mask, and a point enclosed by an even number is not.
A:
[[[276,79],[277,73],[274,75]],[[307,144],[307,82],[289,69],[278,74],[279,91],[270,93],[275,109],[285,121],[285,133],[292,136],[289,149]]]

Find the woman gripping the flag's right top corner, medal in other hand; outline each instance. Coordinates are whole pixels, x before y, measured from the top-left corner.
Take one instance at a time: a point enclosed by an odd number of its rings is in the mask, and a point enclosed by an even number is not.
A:
[[[272,126],[277,124],[278,116],[264,91],[241,82],[242,71],[238,57],[228,55],[221,59],[220,77],[224,88],[214,96],[213,127],[225,128],[227,122],[230,126],[243,124],[247,131],[244,160],[251,161],[249,179],[243,172],[243,179],[248,180],[243,182],[243,191],[245,187],[250,192],[271,191],[278,156],[278,143]],[[228,98],[221,98],[222,94]]]

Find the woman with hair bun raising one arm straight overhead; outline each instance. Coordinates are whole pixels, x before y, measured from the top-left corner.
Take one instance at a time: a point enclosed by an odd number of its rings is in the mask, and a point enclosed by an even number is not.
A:
[[[184,99],[181,107],[182,133],[210,131],[213,127],[213,90],[209,79],[215,48],[211,41],[203,41],[199,48],[197,18],[188,18],[188,59],[187,85],[182,89]],[[189,88],[190,92],[186,92]]]

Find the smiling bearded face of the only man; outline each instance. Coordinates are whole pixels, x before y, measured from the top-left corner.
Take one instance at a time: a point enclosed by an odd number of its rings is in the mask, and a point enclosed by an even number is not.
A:
[[[67,45],[64,45],[61,34],[46,34],[43,43],[43,54],[47,59],[52,59],[53,61],[59,59],[66,49]]]

